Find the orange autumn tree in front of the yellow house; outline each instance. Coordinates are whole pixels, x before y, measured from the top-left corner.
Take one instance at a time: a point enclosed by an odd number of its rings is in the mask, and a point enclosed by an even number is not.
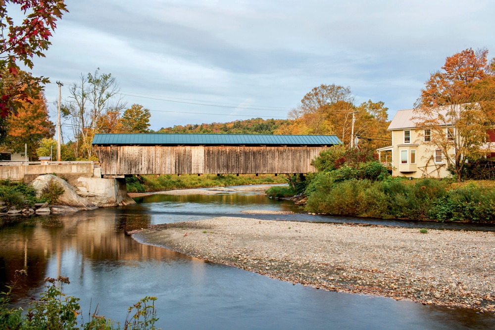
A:
[[[442,70],[431,74],[415,104],[413,121],[430,131],[431,148],[440,149],[457,181],[467,159],[484,155],[493,128],[494,72],[488,50],[465,49],[446,58]]]

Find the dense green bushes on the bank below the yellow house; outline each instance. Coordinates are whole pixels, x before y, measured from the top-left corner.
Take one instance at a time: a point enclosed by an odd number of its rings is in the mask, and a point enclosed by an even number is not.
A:
[[[334,149],[334,148],[332,148]],[[487,181],[392,178],[372,151],[335,148],[313,161],[299,191],[305,210],[343,216],[495,223],[495,187]]]

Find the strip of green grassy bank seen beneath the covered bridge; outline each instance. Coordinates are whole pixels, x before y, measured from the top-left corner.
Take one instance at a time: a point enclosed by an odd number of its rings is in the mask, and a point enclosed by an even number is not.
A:
[[[153,176],[143,175],[126,178],[128,192],[146,192],[172,189],[191,189],[191,188],[209,188],[209,187],[228,187],[228,186],[247,186],[247,185],[266,185],[266,184],[286,184],[287,178],[273,174],[234,174],[219,175],[205,174],[198,176],[196,174],[185,174],[182,176],[173,176],[171,174]]]

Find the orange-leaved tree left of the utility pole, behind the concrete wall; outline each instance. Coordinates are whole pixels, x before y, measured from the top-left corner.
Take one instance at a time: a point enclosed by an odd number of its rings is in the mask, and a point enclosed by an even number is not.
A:
[[[24,154],[24,144],[27,144],[29,160],[37,159],[36,150],[43,138],[51,138],[55,134],[55,126],[49,120],[48,106],[45,96],[22,101],[17,115],[7,117],[8,136],[5,146],[13,152]]]

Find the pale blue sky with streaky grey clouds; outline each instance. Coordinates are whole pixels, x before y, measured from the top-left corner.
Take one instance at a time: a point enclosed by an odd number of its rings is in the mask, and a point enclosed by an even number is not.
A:
[[[321,84],[349,87],[359,104],[408,109],[447,56],[495,56],[493,0],[65,0],[35,76],[58,87],[100,68],[150,128],[287,118]],[[195,104],[193,104],[195,103]]]

